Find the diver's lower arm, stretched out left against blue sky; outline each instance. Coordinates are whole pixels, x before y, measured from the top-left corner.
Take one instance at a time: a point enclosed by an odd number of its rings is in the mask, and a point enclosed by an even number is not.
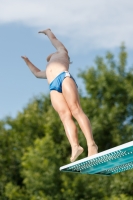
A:
[[[21,58],[23,58],[23,60],[25,61],[25,63],[27,64],[27,66],[29,67],[29,69],[31,70],[31,72],[37,77],[37,78],[47,78],[46,76],[46,71],[41,71],[40,69],[38,69],[35,65],[33,65],[30,60],[26,57],[26,56],[21,56]]]

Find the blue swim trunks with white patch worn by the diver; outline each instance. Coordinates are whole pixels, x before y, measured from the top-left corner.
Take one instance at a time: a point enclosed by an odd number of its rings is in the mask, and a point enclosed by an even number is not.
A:
[[[62,82],[67,76],[74,80],[74,78],[71,76],[71,74],[68,71],[62,72],[50,83],[50,85],[49,85],[50,91],[56,90],[56,91],[62,93]],[[75,80],[74,80],[74,82],[75,82]],[[75,84],[76,84],[76,82],[75,82]],[[76,86],[77,86],[77,84],[76,84]]]

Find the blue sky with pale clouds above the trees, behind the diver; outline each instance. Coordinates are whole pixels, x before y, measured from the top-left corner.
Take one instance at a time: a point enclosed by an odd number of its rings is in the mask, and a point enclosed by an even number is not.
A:
[[[107,51],[118,55],[125,42],[128,66],[133,65],[132,0],[0,0],[0,119],[16,117],[33,97],[49,94],[47,80],[30,72],[22,55],[44,70],[55,52],[47,36],[50,28],[66,46],[70,72],[80,90],[80,70],[92,66]]]

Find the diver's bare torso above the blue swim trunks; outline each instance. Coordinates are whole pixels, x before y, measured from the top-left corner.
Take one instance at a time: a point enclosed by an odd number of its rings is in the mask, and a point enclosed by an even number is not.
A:
[[[69,59],[66,51],[53,53],[48,58],[46,75],[48,83],[51,83],[58,74],[69,70]]]

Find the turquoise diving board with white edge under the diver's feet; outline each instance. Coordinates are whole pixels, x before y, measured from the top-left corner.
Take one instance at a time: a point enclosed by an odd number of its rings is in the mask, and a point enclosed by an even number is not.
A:
[[[133,169],[133,141],[60,167],[60,171],[113,175]]]

